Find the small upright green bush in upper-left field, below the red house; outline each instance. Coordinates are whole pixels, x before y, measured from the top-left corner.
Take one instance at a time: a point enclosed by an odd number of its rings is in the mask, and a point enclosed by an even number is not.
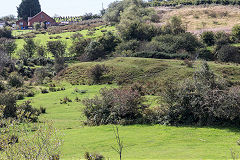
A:
[[[25,44],[23,45],[24,52],[27,58],[32,58],[36,51],[36,44],[31,38],[24,39]]]

